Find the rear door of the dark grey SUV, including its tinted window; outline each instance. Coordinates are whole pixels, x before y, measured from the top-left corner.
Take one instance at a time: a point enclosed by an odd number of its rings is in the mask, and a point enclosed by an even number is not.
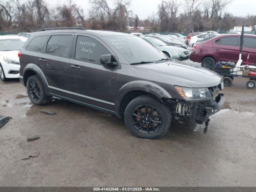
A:
[[[39,55],[38,62],[53,94],[68,96],[66,92],[71,90],[69,60],[73,39],[74,33],[51,34],[44,47],[45,53]]]

